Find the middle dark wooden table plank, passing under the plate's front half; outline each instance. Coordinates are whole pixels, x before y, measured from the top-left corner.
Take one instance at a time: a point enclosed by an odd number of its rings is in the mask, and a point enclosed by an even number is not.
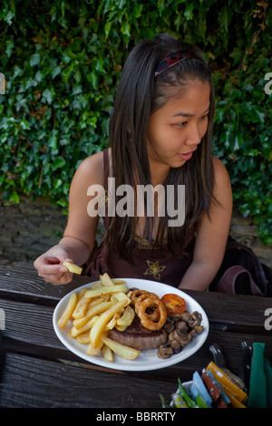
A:
[[[5,308],[6,313],[6,327],[3,332],[6,351],[86,363],[68,351],[57,338],[53,331],[52,307],[44,306],[42,308],[41,306],[3,300],[0,301],[0,307]],[[257,335],[249,332],[250,330],[248,330],[248,334],[239,334],[211,328],[206,343],[198,353],[177,365],[160,371],[148,372],[145,375],[169,378],[180,376],[184,381],[190,380],[195,370],[201,371],[211,361],[209,346],[213,343],[222,345],[228,366],[234,373],[238,373],[238,363],[241,356],[240,344],[243,340],[247,340],[248,343],[266,343],[267,356],[272,359],[272,335]],[[94,369],[98,368],[95,364],[91,363],[91,365]]]

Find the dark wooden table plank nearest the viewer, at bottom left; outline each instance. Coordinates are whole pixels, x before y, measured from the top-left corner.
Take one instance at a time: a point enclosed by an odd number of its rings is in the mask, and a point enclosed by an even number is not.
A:
[[[81,366],[7,353],[0,369],[0,407],[10,408],[161,408],[177,382],[95,371]]]

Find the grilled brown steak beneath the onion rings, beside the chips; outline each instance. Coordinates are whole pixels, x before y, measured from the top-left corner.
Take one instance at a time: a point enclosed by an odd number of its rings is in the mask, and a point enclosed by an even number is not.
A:
[[[137,315],[124,332],[120,332],[113,328],[109,332],[109,337],[119,344],[125,344],[139,351],[145,349],[156,349],[160,344],[165,344],[167,341],[167,333],[165,330],[158,331],[147,330],[142,324]]]

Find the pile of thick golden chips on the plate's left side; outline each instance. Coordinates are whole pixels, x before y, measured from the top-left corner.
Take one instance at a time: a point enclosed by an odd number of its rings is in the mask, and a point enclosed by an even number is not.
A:
[[[112,279],[108,274],[99,277],[91,288],[73,292],[58,326],[63,328],[72,322],[69,335],[80,344],[88,344],[88,355],[99,355],[114,361],[114,353],[126,360],[134,360],[140,351],[119,344],[108,337],[113,327],[124,331],[134,318],[129,289],[125,281]]]

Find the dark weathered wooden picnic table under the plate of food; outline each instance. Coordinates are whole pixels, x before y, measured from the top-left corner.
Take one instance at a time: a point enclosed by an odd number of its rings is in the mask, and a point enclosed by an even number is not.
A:
[[[238,373],[243,341],[265,343],[272,360],[272,331],[265,326],[272,298],[187,291],[210,326],[207,341],[189,359],[140,373],[88,363],[68,351],[53,330],[55,305],[87,282],[90,278],[77,277],[69,285],[52,286],[34,269],[0,266],[0,407],[161,409],[160,393],[170,401],[178,377],[189,381],[208,365],[210,344],[221,346],[233,373]]]

